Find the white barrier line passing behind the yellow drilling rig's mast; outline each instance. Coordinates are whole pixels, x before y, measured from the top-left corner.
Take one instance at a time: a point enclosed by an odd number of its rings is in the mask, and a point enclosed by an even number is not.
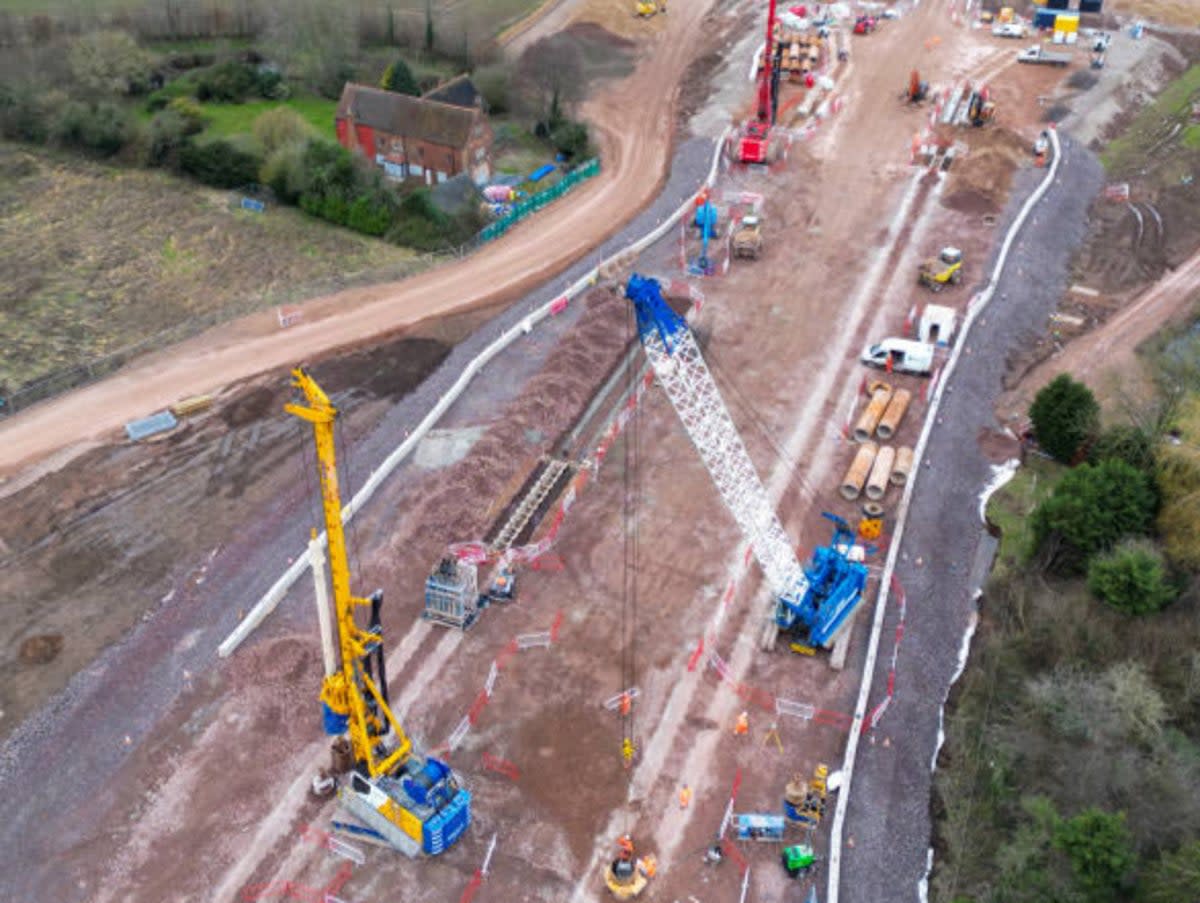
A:
[[[732,127],[732,126],[731,126]],[[720,167],[721,154],[724,153],[725,140],[728,137],[730,128],[727,127],[721,137],[716,142],[716,146],[713,149],[713,162],[708,168],[708,177],[704,179],[704,185],[712,187],[716,180],[716,172]],[[425,415],[420,424],[414,429],[400,445],[397,445],[383,464],[378,468],[371,472],[366,483],[358,491],[354,498],[342,509],[342,522],[348,524],[350,519],[365,506],[371,496],[374,495],[376,490],[383,485],[383,482],[391,476],[391,472],[396,470],[400,464],[413,453],[416,444],[425,438],[425,435],[433,427],[434,424],[450,406],[458,400],[458,396],[466,390],[467,385],[470,383],[479,371],[482,370],[492,358],[499,354],[504,348],[511,345],[514,341],[520,339],[522,335],[527,334],[533,327],[535,327],[541,321],[546,319],[553,313],[553,306],[560,298],[575,298],[582,292],[587,291],[598,277],[601,267],[606,267],[613,263],[622,255],[626,255],[630,251],[641,252],[649,247],[649,245],[658,241],[666,232],[674,227],[680,217],[686,216],[688,211],[692,208],[692,199],[688,198],[678,210],[676,210],[671,216],[668,216],[662,223],[650,231],[648,235],[642,237],[640,240],[629,245],[622,251],[618,251],[593,267],[583,276],[575,281],[563,294],[551,299],[546,304],[538,307],[535,311],[529,313],[529,316],[523,317],[518,323],[506,329],[496,341],[488,345],[484,351],[481,351],[470,363],[463,367],[462,373],[455,381],[454,385],[446,390],[433,408]],[[320,536],[317,537],[317,542],[324,546],[326,543],[325,532],[322,531]],[[268,590],[253,608],[247,612],[247,615],[238,623],[238,626],[229,633],[221,645],[217,646],[217,654],[221,658],[227,658],[246,640],[247,636],[258,627],[263,620],[271,614],[276,606],[287,596],[288,590],[292,588],[293,584],[300,579],[300,575],[308,567],[308,556],[298,555],[296,560],[292,562],[287,570],[276,580],[271,588]]]

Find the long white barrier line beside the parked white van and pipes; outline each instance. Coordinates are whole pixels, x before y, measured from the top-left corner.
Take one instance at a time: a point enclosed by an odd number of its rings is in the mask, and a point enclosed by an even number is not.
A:
[[[1058,133],[1054,128],[1049,130],[1049,132],[1050,142],[1054,145],[1054,160],[1051,161],[1042,184],[1038,185],[1034,192],[1028,197],[1021,207],[1016,219],[1013,221],[1013,225],[1009,227],[1008,234],[1004,237],[1004,241],[1001,245],[1000,256],[996,258],[996,265],[992,268],[991,276],[988,280],[988,285],[979,295],[979,303],[972,305],[967,312],[966,319],[962,323],[962,329],[959,331],[959,341],[955,343],[950,359],[942,372],[941,383],[934,390],[934,396],[930,399],[929,409],[925,413],[925,423],[920,431],[920,438],[917,442],[917,447],[913,449],[912,477],[905,485],[904,497],[900,501],[896,515],[896,528],[893,531],[892,544],[888,548],[887,562],[883,566],[883,575],[880,580],[880,594],[875,603],[875,620],[871,623],[871,635],[866,650],[866,663],[863,665],[862,682],[858,688],[858,701],[854,705],[854,718],[850,729],[850,738],[846,743],[846,757],[841,770],[842,787],[841,791],[838,794],[838,805],[834,809],[833,829],[830,830],[829,836],[829,881],[826,891],[828,903],[838,903],[839,885],[841,883],[841,836],[842,830],[845,829],[846,809],[850,806],[850,789],[854,773],[854,760],[858,755],[858,741],[863,734],[866,704],[870,700],[871,684],[875,678],[875,662],[878,656],[880,635],[883,630],[883,620],[887,614],[888,597],[890,596],[892,573],[895,569],[896,556],[900,552],[904,528],[908,519],[908,506],[912,501],[913,490],[920,472],[920,462],[925,454],[925,447],[929,444],[929,436],[932,432],[932,426],[937,420],[937,409],[942,401],[943,390],[950,381],[954,367],[958,365],[959,355],[961,354],[962,348],[966,346],[971,327],[974,324],[978,315],[991,300],[991,295],[995,293],[996,286],[1000,281],[1000,275],[1004,269],[1006,262],[1008,261],[1008,253],[1012,250],[1013,243],[1016,240],[1018,233],[1025,225],[1025,220],[1028,217],[1030,213],[1038,204],[1038,202],[1042,201],[1046,191],[1050,190],[1050,185],[1054,184],[1055,177],[1058,173],[1058,165],[1062,160],[1062,146],[1058,143]]]

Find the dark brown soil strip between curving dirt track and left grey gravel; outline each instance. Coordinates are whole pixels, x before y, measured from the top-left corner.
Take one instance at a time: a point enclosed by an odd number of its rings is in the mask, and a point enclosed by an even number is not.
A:
[[[439,339],[404,337],[313,371],[350,429],[367,430],[448,351]],[[161,439],[92,449],[5,498],[0,736],[161,600],[203,581],[196,560],[229,545],[239,525],[302,497],[288,395],[286,373],[274,373]]]

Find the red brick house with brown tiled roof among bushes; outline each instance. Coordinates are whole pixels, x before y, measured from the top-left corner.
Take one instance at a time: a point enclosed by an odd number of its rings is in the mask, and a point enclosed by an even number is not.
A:
[[[412,97],[348,83],[334,120],[337,140],[374,161],[391,179],[437,185],[466,173],[482,185],[492,177],[492,127],[474,85],[469,91],[460,85],[452,92],[456,98],[470,97],[469,104],[431,96],[445,89]]]

